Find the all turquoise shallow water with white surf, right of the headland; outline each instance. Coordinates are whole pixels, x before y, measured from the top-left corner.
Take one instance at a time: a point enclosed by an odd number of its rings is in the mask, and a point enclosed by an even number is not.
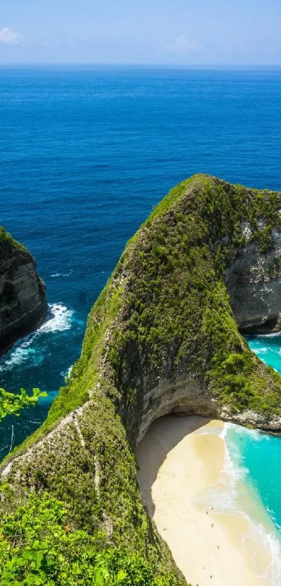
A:
[[[248,343],[260,359],[281,373],[280,335],[248,336]],[[254,549],[255,541],[262,543],[271,555],[261,584],[280,586],[281,437],[234,424],[225,424],[223,437],[227,446],[225,472],[229,486],[222,510],[240,511],[248,517]]]

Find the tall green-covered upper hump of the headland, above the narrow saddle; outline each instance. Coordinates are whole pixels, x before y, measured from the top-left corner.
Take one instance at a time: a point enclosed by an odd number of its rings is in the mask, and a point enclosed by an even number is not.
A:
[[[273,229],[281,230],[280,208],[278,193],[208,176],[175,187],[128,243],[93,306],[70,389],[106,380],[126,427],[144,387],[187,374],[218,409],[279,414],[280,377],[239,334],[225,271],[245,246],[245,223],[259,254],[267,254]],[[61,394],[51,420],[75,394]]]

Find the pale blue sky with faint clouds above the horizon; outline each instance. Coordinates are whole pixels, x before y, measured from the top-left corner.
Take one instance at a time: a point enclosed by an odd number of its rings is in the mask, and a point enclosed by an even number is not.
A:
[[[2,0],[0,64],[281,65],[280,0]]]

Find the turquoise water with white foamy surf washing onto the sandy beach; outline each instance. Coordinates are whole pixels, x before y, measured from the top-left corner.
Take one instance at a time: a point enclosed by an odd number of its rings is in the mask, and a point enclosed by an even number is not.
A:
[[[217,511],[242,515],[248,520],[250,529],[243,536],[245,555],[252,559],[262,586],[280,586],[281,438],[234,424],[225,424],[223,436],[228,483]],[[259,561],[255,559],[260,546],[270,560],[262,572],[258,571]]]

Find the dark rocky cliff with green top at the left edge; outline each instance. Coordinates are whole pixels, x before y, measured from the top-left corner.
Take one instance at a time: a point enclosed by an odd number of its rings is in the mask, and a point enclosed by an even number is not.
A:
[[[45,285],[28,250],[0,229],[0,355],[47,313]]]

